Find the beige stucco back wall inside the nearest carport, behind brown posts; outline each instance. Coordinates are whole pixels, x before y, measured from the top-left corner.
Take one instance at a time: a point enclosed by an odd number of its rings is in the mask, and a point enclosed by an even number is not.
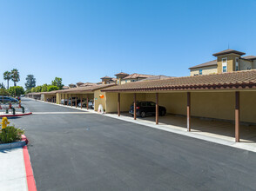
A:
[[[154,93],[138,94],[139,101],[156,102]],[[123,97],[123,98],[122,98]],[[240,121],[256,122],[256,92],[240,93]],[[121,94],[121,112],[127,112],[133,102],[133,94]],[[192,92],[192,116],[234,120],[234,92]],[[159,93],[159,105],[169,114],[186,115],[186,93]],[[106,112],[118,110],[118,93],[106,93]]]

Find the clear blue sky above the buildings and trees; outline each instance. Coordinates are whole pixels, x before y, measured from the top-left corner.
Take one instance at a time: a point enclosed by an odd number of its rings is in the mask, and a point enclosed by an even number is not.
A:
[[[256,55],[255,10],[256,0],[0,0],[0,74],[19,69],[22,86],[29,74],[37,85],[188,76],[228,44]]]

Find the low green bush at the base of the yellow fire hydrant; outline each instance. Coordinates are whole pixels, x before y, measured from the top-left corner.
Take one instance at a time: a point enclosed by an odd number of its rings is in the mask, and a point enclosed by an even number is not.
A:
[[[0,142],[9,143],[21,140],[21,135],[24,134],[24,130],[15,128],[14,126],[7,126],[0,132]]]

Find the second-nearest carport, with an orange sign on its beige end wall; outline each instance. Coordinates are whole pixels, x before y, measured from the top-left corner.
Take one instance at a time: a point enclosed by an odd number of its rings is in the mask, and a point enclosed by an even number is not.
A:
[[[105,102],[106,97],[105,93],[101,92],[100,89],[109,88],[116,84],[101,84],[101,85],[92,85],[87,87],[79,87],[79,88],[72,88],[72,89],[62,89],[53,92],[49,92],[46,95],[51,95],[51,101],[56,102],[57,104],[61,104],[62,100],[66,100],[67,102],[63,102],[63,104],[68,105],[68,101],[71,98],[74,99],[74,104],[71,102],[71,107],[76,107],[78,102],[82,100],[82,102],[86,103],[86,107],[88,108],[88,102],[93,100],[94,102],[94,110],[98,109],[98,105],[101,104],[103,109],[105,110]],[[81,104],[81,108],[83,105]]]

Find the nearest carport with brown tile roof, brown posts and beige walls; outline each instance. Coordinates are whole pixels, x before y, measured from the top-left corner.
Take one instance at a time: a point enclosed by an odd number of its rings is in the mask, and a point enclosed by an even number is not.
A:
[[[102,91],[106,94],[106,113],[127,114],[131,104],[136,108],[138,101],[153,101],[156,102],[156,124],[159,122],[158,107],[161,105],[168,114],[185,115],[188,131],[193,128],[192,117],[234,122],[235,141],[239,142],[241,122],[256,128],[255,90],[256,70],[248,70],[131,82]]]

